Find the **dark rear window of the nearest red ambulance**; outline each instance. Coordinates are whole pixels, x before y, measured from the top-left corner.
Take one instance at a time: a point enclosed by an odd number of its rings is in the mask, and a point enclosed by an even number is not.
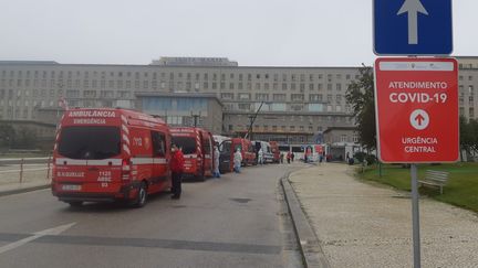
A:
[[[71,159],[107,159],[121,153],[117,127],[64,127],[59,153]]]

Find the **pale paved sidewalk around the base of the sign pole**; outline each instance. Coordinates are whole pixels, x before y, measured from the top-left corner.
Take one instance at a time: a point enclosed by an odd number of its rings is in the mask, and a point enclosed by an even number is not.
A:
[[[404,192],[360,182],[324,163],[289,180],[331,267],[413,267],[412,203]],[[478,267],[478,216],[420,200],[423,267]]]

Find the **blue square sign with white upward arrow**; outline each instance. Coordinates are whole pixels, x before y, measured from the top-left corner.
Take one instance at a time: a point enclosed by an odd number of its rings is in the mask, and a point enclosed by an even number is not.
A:
[[[449,55],[451,0],[374,0],[376,55]]]

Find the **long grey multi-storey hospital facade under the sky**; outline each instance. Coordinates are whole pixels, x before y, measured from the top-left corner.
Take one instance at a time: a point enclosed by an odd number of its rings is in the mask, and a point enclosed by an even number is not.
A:
[[[477,118],[478,57],[458,61],[460,114]],[[262,105],[253,124],[258,138],[310,143],[329,128],[353,127],[345,93],[358,68],[238,66],[227,58],[188,57],[149,65],[0,62],[0,119],[40,120],[38,111],[59,109],[60,99],[70,107],[137,109],[137,94],[210,94],[224,104],[224,135],[243,135]]]

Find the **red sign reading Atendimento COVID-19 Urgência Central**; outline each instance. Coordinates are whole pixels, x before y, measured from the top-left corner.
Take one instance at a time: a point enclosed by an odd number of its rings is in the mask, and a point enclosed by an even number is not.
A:
[[[458,64],[455,58],[377,58],[375,107],[382,162],[458,160]]]

